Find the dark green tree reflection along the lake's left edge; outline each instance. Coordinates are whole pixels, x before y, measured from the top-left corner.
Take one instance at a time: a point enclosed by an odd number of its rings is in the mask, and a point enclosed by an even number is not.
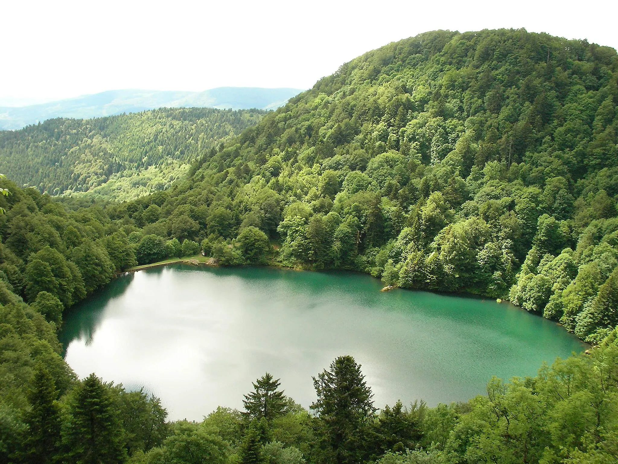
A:
[[[119,298],[127,291],[133,281],[133,274],[124,275],[112,280],[105,288],[95,291],[88,298],[70,307],[63,315],[62,330],[58,335],[62,343],[62,356],[66,356],[69,343],[84,339],[90,345],[96,332],[96,327],[104,317],[104,310],[109,302]],[[87,311],[84,311],[87,309]]]

